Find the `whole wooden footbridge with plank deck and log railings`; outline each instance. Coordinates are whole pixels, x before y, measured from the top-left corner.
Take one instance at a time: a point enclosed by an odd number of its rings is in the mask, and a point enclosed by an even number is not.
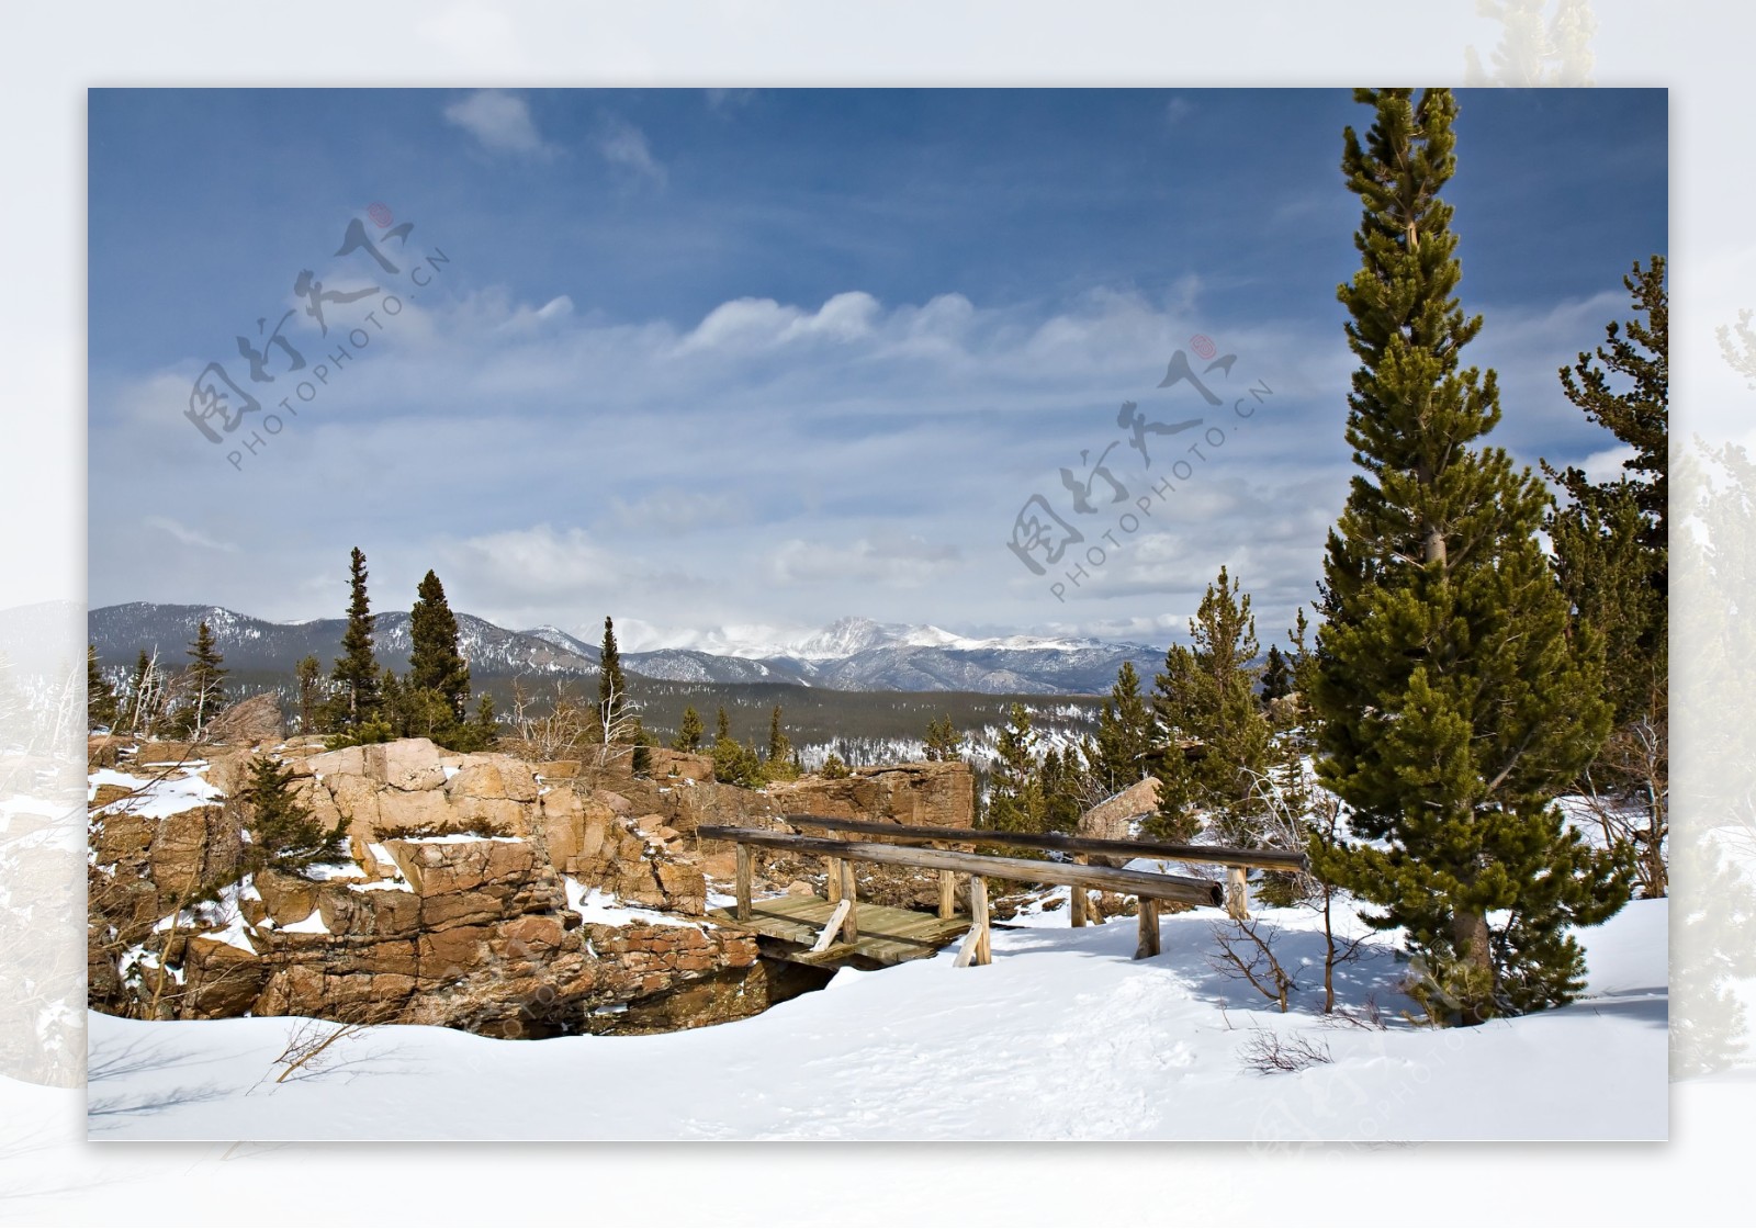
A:
[[[976,829],[915,827],[873,820],[839,820],[824,815],[787,815],[794,829],[827,832],[804,836],[771,829],[702,825],[697,836],[732,841],[738,848],[738,904],[713,909],[709,916],[723,925],[753,931],[764,952],[781,960],[813,966],[882,967],[934,955],[961,934],[971,934],[957,953],[957,964],[989,964],[990,918],[987,880],[1055,883],[1073,888],[1073,925],[1085,925],[1085,892],[1117,892],[1140,902],[1140,943],[1134,959],[1159,955],[1159,902],[1224,908],[1234,918],[1249,916],[1250,867],[1303,871],[1303,853],[1277,850],[1234,850],[1210,844],[1169,844],[1162,841],[1110,841],[1055,832],[989,832]],[[1136,816],[1140,818],[1140,816]],[[866,839],[850,841],[839,834]],[[976,853],[973,846],[1041,850],[1071,855],[1071,862]],[[941,848],[962,846],[962,848]],[[780,850],[820,855],[829,866],[827,895],[778,895],[752,899],[752,850]],[[1092,864],[1098,859],[1101,864]],[[1187,874],[1133,871],[1110,862],[1157,859],[1222,866],[1227,883]],[[939,873],[939,909],[922,913],[855,897],[853,864],[917,867]],[[969,913],[957,913],[957,876],[969,878]]]

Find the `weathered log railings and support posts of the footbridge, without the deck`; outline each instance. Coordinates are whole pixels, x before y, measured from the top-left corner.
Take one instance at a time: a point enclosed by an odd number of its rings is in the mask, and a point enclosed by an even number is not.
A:
[[[1085,924],[1085,890],[1119,892],[1140,901],[1140,943],[1136,959],[1159,953],[1159,901],[1194,906],[1226,906],[1234,916],[1247,916],[1243,874],[1247,867],[1298,871],[1305,867],[1303,853],[1277,850],[1234,850],[1205,844],[1168,844],[1162,841],[1110,841],[1087,836],[1054,832],[990,832],[985,829],[915,827],[880,823],[873,820],[838,820],[827,815],[788,815],[794,827],[824,829],[829,832],[857,832],[878,836],[880,841],[839,841],[769,829],[739,829],[701,825],[695,832],[709,841],[732,841],[738,848],[738,908],[734,916],[750,920],[752,848],[817,853],[827,859],[827,895],[836,904],[841,938],[853,943],[859,938],[859,909],[853,890],[853,862],[880,866],[906,866],[936,869],[939,873],[939,916],[955,913],[955,876],[969,876],[969,938],[959,953],[959,964],[987,964],[990,959],[987,876],[1020,880],[1027,883],[1055,883],[1073,888],[1073,925]],[[1075,857],[1152,857],[1164,860],[1203,862],[1229,869],[1229,890],[1213,880],[1157,871],[1131,871],[1126,867],[1089,866],[1083,862],[1047,862],[1040,859],[999,857],[966,850],[917,848],[922,844],[989,844],[1006,848],[1055,850]],[[841,906],[846,904],[843,909]],[[834,925],[825,929],[825,936]]]

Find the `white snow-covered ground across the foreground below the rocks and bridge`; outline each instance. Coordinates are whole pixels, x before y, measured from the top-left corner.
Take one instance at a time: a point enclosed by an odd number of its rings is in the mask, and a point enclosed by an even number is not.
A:
[[[1308,911],[1268,915],[1292,960],[1321,959]],[[831,985],[752,1020],[644,1038],[493,1041],[378,1027],[284,1083],[288,1018],[90,1018],[93,1139],[1663,1139],[1666,906],[1582,934],[1589,997],[1477,1029],[1400,1018],[1407,971],[1375,939],[1342,999],[1385,1031],[1324,1022],[1321,967],[1294,1011],[1215,973],[1213,911],[1073,931],[1066,909]],[[1270,1008],[1270,1010],[1261,1010]],[[1333,1062],[1259,1074],[1277,1034]]]

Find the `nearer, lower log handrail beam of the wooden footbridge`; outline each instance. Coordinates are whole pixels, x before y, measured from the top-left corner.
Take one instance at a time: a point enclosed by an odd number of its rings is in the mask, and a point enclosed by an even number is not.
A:
[[[962,871],[997,880],[1022,883],[1064,883],[1068,887],[1098,888],[1122,895],[1147,895],[1157,901],[1182,904],[1226,902],[1226,892],[1213,880],[1187,874],[1159,874],[1155,871],[1126,871],[1108,866],[1073,866],[1071,862],[1040,862],[1036,859],[1006,859],[992,853],[962,853],[957,850],[913,850],[880,844],[878,841],[827,841],[815,836],[794,836],[767,829],[738,829],[704,823],[695,829],[708,841],[741,841],[767,850],[795,850],[820,853],[852,862],[878,862],[882,866],[913,866],[929,871]],[[846,892],[846,885],[843,885]]]

